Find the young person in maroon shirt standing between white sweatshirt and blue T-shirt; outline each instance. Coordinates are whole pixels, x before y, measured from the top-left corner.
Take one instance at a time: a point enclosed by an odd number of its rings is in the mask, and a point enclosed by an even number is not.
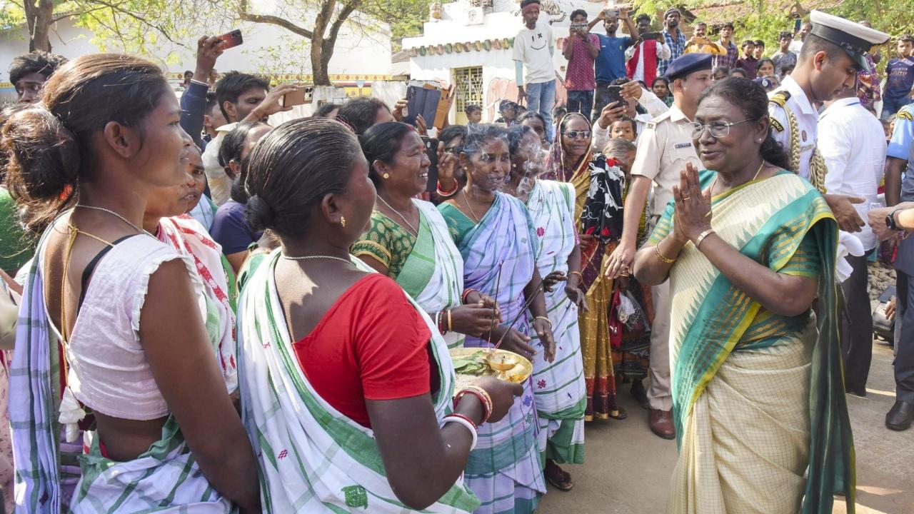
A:
[[[562,55],[568,59],[565,74],[565,89],[569,94],[569,112],[581,112],[590,118],[593,109],[593,91],[597,87],[593,66],[600,54],[600,37],[590,34],[587,11],[576,9],[571,12],[569,39]]]

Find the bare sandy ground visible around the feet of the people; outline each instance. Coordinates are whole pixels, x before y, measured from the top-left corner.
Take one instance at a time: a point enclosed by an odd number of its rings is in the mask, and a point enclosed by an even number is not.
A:
[[[914,428],[899,433],[883,424],[895,402],[891,365],[891,348],[874,343],[867,397],[848,396],[856,442],[858,514],[914,512]],[[563,493],[550,487],[537,513],[664,512],[675,441],[651,433],[647,412],[632,401],[627,389],[620,391],[620,401],[628,419],[588,426],[587,462],[568,467],[575,488]],[[838,504],[834,512],[844,513],[844,505]]]

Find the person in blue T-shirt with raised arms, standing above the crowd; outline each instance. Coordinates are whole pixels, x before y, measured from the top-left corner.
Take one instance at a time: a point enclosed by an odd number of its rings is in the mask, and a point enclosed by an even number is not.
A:
[[[605,36],[602,34],[597,35],[600,39],[600,53],[597,55],[596,62],[597,89],[594,91],[593,112],[590,114],[593,119],[600,116],[603,107],[609,102],[609,90],[607,87],[612,80],[625,78],[625,50],[632,47],[634,40],[632,36],[616,37],[620,20],[625,23],[630,35],[637,34],[632,18],[628,16],[628,9],[619,9],[619,16],[602,10],[600,15],[590,22],[590,27],[592,28],[602,21],[603,29],[606,30]]]

